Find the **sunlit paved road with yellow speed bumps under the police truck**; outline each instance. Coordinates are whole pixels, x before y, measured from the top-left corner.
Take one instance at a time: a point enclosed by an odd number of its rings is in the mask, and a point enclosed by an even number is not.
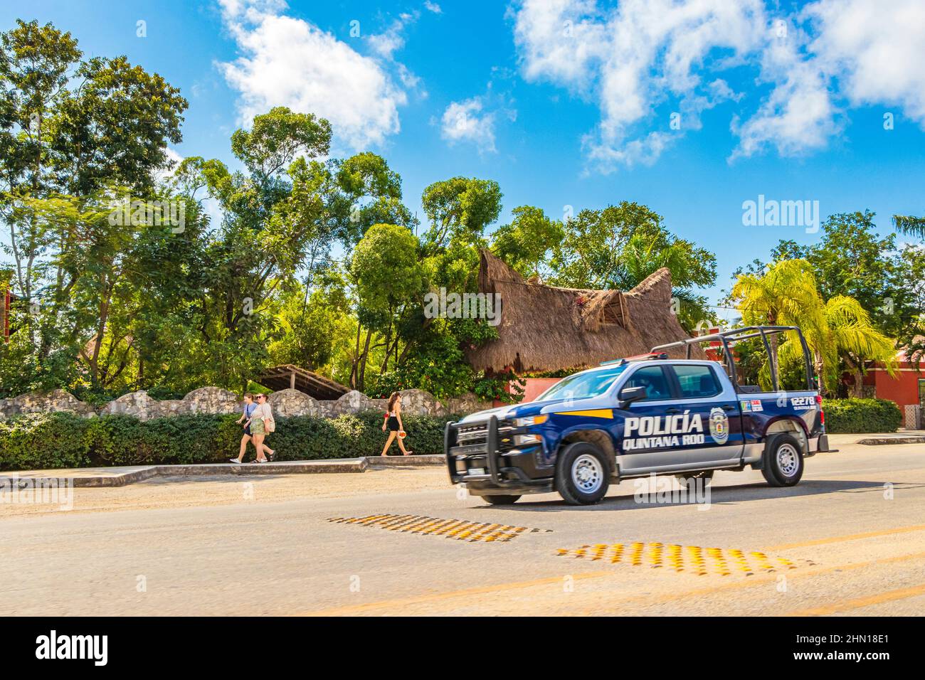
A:
[[[74,488],[0,505],[0,614],[925,613],[925,445],[833,439],[709,505],[498,508],[434,468]]]

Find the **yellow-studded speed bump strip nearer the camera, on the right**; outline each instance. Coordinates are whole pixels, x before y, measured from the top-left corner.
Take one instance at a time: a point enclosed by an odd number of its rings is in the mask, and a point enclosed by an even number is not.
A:
[[[769,557],[759,550],[701,548],[676,543],[597,543],[574,550],[559,549],[562,557],[604,560],[611,564],[648,565],[652,569],[667,569],[677,573],[728,576],[754,575],[796,569],[796,564],[783,557]],[[811,563],[810,563],[811,564]]]

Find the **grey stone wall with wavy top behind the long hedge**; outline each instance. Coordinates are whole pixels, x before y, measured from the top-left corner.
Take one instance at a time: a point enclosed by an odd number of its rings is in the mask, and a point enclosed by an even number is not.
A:
[[[269,399],[274,414],[314,415],[334,418],[341,414],[359,414],[364,411],[385,412],[388,400],[371,399],[353,389],[336,401],[317,401],[297,389],[282,389],[273,392]],[[490,408],[491,404],[480,402],[474,394],[440,402],[433,394],[423,389],[405,389],[401,392],[401,413],[408,415],[443,416],[471,414]],[[178,414],[234,414],[240,413],[241,401],[234,392],[221,388],[193,389],[183,399],[156,400],[144,390],[123,394],[118,399],[94,409],[89,403],[80,402],[63,389],[50,392],[30,392],[19,397],[0,400],[0,418],[15,414],[43,414],[64,411],[83,417],[95,415],[125,414],[140,420],[164,418]]]

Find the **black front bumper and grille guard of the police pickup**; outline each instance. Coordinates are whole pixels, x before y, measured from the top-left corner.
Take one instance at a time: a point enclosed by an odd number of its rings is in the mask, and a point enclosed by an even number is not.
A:
[[[447,423],[443,450],[447,455],[450,482],[464,484],[475,496],[494,493],[548,493],[552,469],[542,464],[541,445],[516,448],[514,437],[522,431],[511,421],[487,420]]]

